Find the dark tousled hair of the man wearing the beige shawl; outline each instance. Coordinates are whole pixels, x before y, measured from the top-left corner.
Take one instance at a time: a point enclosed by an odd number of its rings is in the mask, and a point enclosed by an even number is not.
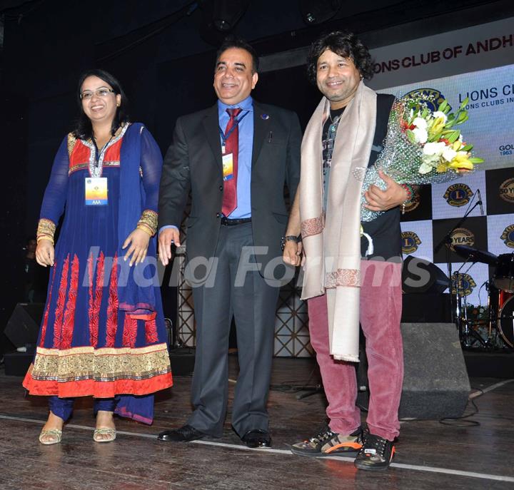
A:
[[[345,58],[351,58],[361,76],[366,79],[373,77],[373,61],[368,48],[358,37],[346,31],[333,31],[323,34],[313,42],[307,55],[307,76],[309,81],[316,85],[316,69],[318,58],[327,49]]]

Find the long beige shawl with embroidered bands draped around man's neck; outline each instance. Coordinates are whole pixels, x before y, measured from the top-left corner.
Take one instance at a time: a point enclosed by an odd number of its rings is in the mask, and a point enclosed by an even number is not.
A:
[[[376,125],[376,93],[361,83],[339,121],[326,216],[321,139],[330,104],[322,98],[301,148],[302,299],[326,294],[331,354],[358,362],[361,286],[361,190]]]

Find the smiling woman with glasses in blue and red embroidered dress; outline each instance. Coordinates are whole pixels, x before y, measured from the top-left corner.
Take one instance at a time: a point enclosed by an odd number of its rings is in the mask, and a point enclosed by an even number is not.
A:
[[[151,424],[153,393],[172,384],[154,238],[161,151],[141,123],[129,123],[109,73],[84,73],[78,96],[79,120],[54,160],[37,233],[36,260],[52,270],[24,387],[50,397],[42,444],[61,441],[74,397],[94,397],[94,440],[109,442],[114,413]]]

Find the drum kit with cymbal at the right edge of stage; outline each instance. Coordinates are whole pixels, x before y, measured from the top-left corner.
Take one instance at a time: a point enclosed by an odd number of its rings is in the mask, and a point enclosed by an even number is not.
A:
[[[468,308],[463,287],[463,274],[453,275],[452,292],[455,295],[453,312],[463,348],[514,349],[514,253],[494,255],[467,245],[455,245],[455,252],[465,263],[481,262],[495,267],[493,277],[485,282],[488,291],[488,312],[484,319],[468,320]],[[479,328],[486,335],[480,335]]]

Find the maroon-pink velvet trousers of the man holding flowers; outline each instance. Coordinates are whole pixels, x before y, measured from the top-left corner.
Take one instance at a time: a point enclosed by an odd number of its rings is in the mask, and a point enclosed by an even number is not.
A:
[[[368,428],[392,441],[400,429],[398,406],[403,383],[401,264],[362,260],[361,277],[361,327],[366,336],[371,393]],[[308,300],[308,315],[311,344],[328,399],[329,425],[333,432],[350,434],[361,425],[355,365],[330,355],[324,295]]]

